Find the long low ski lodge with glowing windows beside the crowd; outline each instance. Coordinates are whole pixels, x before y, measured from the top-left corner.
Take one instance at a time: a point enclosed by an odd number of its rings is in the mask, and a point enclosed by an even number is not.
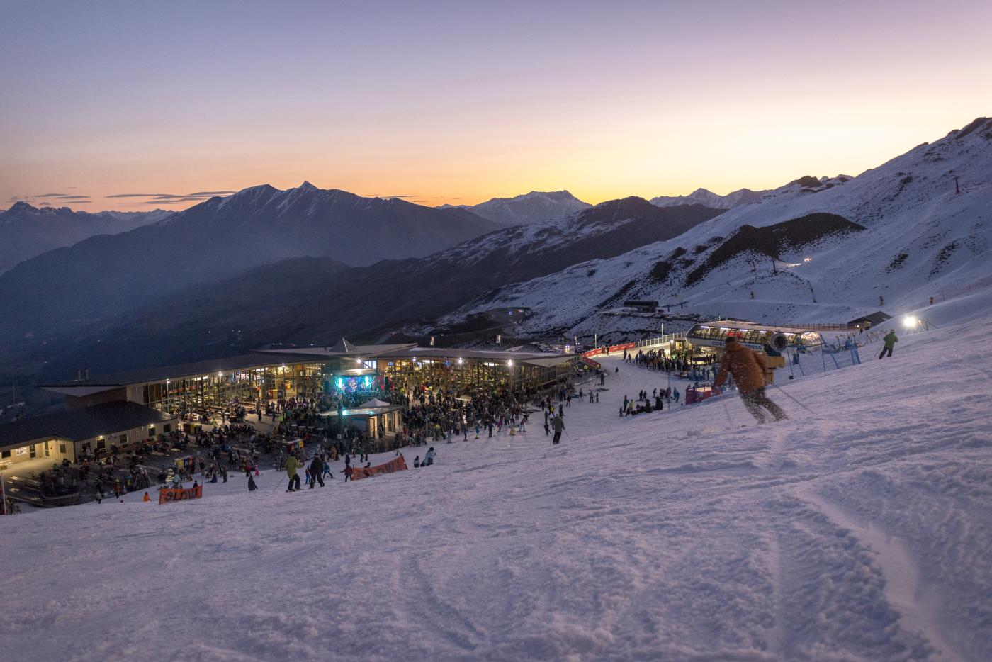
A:
[[[428,383],[454,387],[523,389],[566,375],[575,354],[420,347],[416,343],[258,350],[182,365],[146,368],[39,388],[65,398],[65,410],[0,424],[0,469],[47,459],[76,462],[111,446],[154,439],[178,429],[180,412],[217,412],[234,399],[258,400],[344,393],[368,400],[377,392]],[[402,407],[346,410],[369,432],[395,432]],[[392,423],[391,423],[392,422]],[[185,424],[188,425],[188,424]],[[6,466],[5,466],[6,464]]]

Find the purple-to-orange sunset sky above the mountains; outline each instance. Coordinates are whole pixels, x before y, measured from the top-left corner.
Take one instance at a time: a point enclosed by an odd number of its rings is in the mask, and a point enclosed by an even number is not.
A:
[[[0,208],[856,175],[992,114],[990,36],[989,0],[0,0]]]

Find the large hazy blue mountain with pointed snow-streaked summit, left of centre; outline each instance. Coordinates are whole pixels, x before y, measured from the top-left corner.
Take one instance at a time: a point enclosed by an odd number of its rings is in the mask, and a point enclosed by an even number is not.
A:
[[[129,232],[50,251],[0,275],[0,331],[120,315],[291,257],[349,265],[429,255],[498,226],[464,209],[304,183],[211,198]]]

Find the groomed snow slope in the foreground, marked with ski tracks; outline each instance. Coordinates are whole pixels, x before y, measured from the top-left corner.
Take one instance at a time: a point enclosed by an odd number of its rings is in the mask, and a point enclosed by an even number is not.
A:
[[[559,448],[532,425],[312,491],[3,518],[0,657],[987,660],[990,323],[787,381],[782,424],[736,396],[620,419],[667,382],[607,358]]]

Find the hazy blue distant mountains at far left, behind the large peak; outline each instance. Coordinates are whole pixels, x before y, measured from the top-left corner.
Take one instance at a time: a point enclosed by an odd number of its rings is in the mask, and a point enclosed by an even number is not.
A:
[[[18,262],[94,234],[117,234],[162,220],[170,209],[151,211],[73,211],[62,206],[36,207],[16,202],[0,211],[0,273]]]

